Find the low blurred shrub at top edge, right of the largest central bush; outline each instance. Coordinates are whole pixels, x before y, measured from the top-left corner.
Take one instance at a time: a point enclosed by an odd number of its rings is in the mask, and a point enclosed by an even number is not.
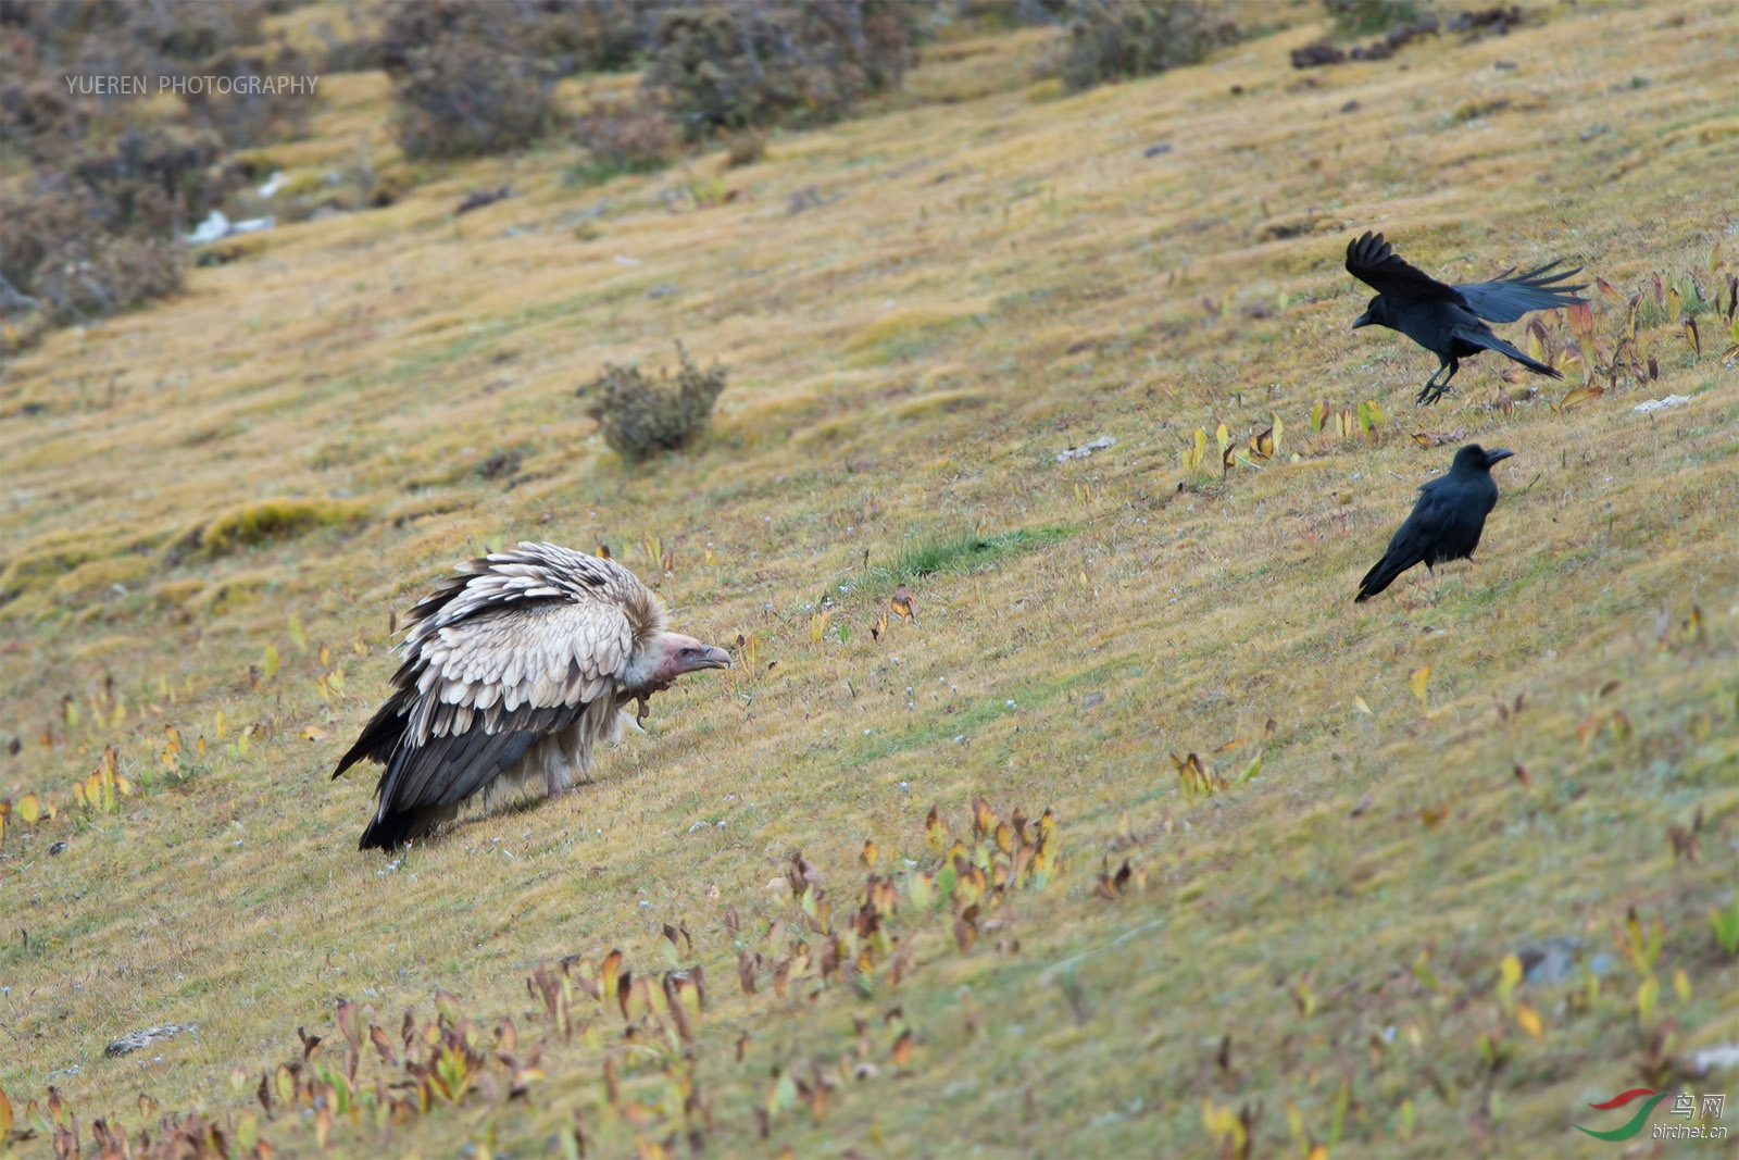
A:
[[[1069,92],[1195,64],[1238,38],[1217,5],[1196,0],[1069,0],[1057,71]]]

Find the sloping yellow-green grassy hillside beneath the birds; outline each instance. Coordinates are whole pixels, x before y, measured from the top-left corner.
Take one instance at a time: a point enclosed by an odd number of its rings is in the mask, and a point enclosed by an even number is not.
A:
[[[1595,1157],[1589,1101],[1732,1089],[1690,1059],[1739,1040],[1739,16],[1542,16],[1068,99],[1029,35],[955,43],[746,169],[428,172],[10,357],[16,1129],[52,1085],[87,1148],[181,1111],[294,1155]],[[384,80],[322,90],[278,167],[396,163]],[[1487,357],[1416,410],[1431,357],[1348,332],[1367,228],[1614,294],[1586,348],[1541,320],[1565,381]],[[574,391],[675,339],[730,386],[628,466]],[[1355,607],[1466,440],[1516,450],[1478,563]],[[360,856],[370,777],[329,772],[390,616],[516,539],[671,553],[744,664],[569,798]],[[80,805],[108,746],[134,793]]]

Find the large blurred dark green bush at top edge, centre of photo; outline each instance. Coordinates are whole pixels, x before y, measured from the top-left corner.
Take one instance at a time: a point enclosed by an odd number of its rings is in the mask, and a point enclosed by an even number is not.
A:
[[[744,0],[673,7],[643,83],[690,141],[793,118],[830,122],[899,83],[916,5],[899,0]]]

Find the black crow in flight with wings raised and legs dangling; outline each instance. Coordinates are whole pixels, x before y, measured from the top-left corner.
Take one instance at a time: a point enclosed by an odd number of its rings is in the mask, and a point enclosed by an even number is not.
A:
[[[1353,329],[1372,323],[1389,327],[1436,355],[1436,374],[1419,391],[1421,403],[1442,398],[1449,381],[1461,369],[1461,360],[1482,350],[1509,355],[1534,374],[1558,379],[1563,376],[1542,362],[1534,362],[1480,322],[1482,318],[1515,322],[1530,310],[1582,303],[1584,299],[1572,294],[1582,289],[1581,283],[1562,285],[1581,266],[1574,270],[1556,266],[1558,263],[1549,263],[1522,275],[1511,266],[1490,282],[1445,285],[1403,263],[1381,233],[1365,233],[1346,243],[1346,273],[1376,289],[1377,296],[1370,299],[1365,313],[1353,320]],[[1436,376],[1445,369],[1449,374],[1438,383]]]

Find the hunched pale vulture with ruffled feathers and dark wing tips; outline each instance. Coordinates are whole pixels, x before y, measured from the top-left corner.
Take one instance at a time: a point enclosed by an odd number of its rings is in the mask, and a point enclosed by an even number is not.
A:
[[[358,849],[390,850],[482,795],[490,810],[586,781],[621,710],[730,654],[664,628],[664,602],[614,560],[522,543],[468,560],[405,614],[393,696],[339,758],[386,769]]]

